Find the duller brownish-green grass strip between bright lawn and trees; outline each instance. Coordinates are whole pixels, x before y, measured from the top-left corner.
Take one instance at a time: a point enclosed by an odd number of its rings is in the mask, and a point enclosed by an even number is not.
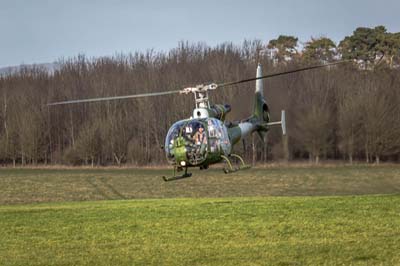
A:
[[[107,199],[324,196],[400,193],[400,166],[220,169],[165,183],[171,170],[0,169],[0,205]]]

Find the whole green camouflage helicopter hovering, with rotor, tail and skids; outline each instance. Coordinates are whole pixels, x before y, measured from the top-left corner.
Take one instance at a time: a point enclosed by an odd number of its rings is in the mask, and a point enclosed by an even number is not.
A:
[[[232,152],[233,146],[246,138],[246,136],[257,132],[261,139],[263,139],[264,134],[272,126],[281,126],[282,134],[286,134],[284,110],[282,110],[280,121],[270,122],[269,108],[263,93],[263,79],[340,63],[343,63],[343,61],[304,67],[264,76],[262,74],[262,67],[259,64],[255,78],[221,84],[201,84],[195,87],[187,87],[173,91],[54,102],[49,103],[48,106],[193,93],[195,99],[193,115],[188,119],[174,123],[168,130],[165,138],[164,150],[167,161],[174,169],[172,177],[163,176],[163,179],[164,181],[172,181],[191,177],[192,174],[188,173],[188,168],[199,167],[200,169],[207,169],[210,165],[222,161],[225,162],[223,171],[225,173],[232,173],[250,168],[249,165],[244,163],[240,155]],[[253,114],[241,121],[226,121],[226,115],[231,111],[231,106],[228,104],[212,104],[209,100],[209,91],[215,91],[217,89],[251,81],[256,81]],[[181,171],[184,171],[184,173],[176,175],[176,172]]]

